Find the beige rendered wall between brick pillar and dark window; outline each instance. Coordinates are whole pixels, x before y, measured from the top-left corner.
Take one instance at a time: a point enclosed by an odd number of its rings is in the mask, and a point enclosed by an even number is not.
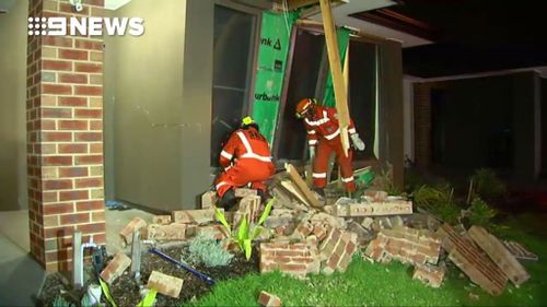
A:
[[[193,208],[210,185],[213,1],[135,0],[113,14],[142,17],[146,33],[106,39],[108,194]]]

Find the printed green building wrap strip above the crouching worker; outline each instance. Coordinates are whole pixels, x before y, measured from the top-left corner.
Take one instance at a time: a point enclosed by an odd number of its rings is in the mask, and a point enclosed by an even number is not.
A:
[[[253,118],[270,144],[277,128],[291,29],[296,19],[298,14],[293,12],[263,13]]]

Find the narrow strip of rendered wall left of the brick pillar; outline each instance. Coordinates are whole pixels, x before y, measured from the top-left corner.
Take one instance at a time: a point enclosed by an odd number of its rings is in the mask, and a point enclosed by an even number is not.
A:
[[[20,0],[0,15],[0,211],[26,209],[26,15]]]

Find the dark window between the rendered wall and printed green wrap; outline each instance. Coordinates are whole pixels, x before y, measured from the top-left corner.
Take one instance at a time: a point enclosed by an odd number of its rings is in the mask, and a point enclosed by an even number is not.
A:
[[[256,15],[214,7],[211,166],[223,142],[249,110]]]

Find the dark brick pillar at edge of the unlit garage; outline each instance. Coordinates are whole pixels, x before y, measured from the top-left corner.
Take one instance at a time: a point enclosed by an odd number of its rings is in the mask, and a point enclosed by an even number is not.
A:
[[[431,164],[431,84],[416,83],[414,87],[415,162],[418,167]]]

